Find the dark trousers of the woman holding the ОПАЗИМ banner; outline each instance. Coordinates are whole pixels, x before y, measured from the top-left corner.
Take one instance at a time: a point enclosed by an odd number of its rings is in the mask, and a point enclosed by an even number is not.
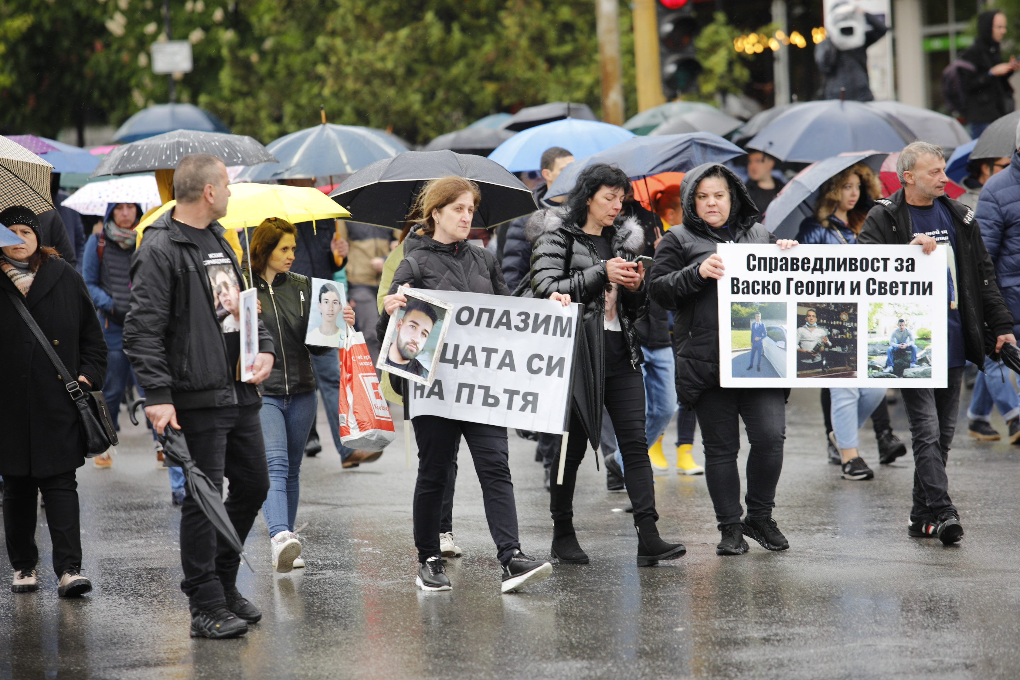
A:
[[[440,554],[444,501],[461,435],[467,440],[478,474],[486,520],[499,561],[508,562],[514,551],[520,550],[520,541],[507,429],[439,416],[417,416],[411,423],[418,442],[418,480],[414,485],[414,545],[418,548],[418,562],[424,563]]]

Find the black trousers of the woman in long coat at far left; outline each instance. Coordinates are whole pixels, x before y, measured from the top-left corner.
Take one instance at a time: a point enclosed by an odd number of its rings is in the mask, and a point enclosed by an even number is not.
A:
[[[82,524],[74,470],[52,477],[7,476],[3,483],[3,530],[10,566],[15,571],[31,571],[39,563],[36,518],[41,491],[53,542],[53,571],[60,577],[70,569],[81,570]]]

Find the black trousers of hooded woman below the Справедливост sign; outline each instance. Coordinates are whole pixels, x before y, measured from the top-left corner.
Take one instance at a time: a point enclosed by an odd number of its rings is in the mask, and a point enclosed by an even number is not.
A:
[[[705,483],[719,524],[741,521],[741,451],[738,418],[751,442],[748,454],[748,517],[772,516],[775,486],[782,472],[782,446],[786,438],[786,407],[778,387],[712,387],[695,405],[705,446]]]

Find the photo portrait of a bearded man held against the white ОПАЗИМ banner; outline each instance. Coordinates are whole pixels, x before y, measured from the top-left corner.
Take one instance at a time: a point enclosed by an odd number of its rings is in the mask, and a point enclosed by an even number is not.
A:
[[[407,304],[390,315],[379,358],[375,364],[388,373],[422,385],[431,385],[447,333],[450,303],[412,287],[401,287]]]

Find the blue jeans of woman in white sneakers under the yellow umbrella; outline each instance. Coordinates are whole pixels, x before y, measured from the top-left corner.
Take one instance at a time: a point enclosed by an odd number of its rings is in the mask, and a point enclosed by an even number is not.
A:
[[[301,460],[317,408],[314,390],[289,397],[262,397],[259,417],[269,466],[269,492],[262,504],[262,516],[270,536],[294,531]]]

